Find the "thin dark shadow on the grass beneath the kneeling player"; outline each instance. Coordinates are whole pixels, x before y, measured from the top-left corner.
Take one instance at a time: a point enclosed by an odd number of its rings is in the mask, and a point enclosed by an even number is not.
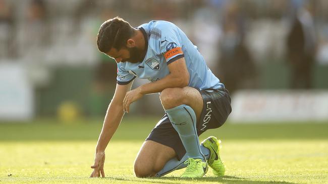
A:
[[[201,177],[201,178],[180,178],[180,177],[148,177],[148,178],[135,178],[128,179],[122,177],[106,177],[114,180],[122,181],[137,181],[137,182],[156,182],[156,183],[173,183],[179,181],[198,181],[198,182],[222,182],[222,183],[250,183],[250,184],[269,184],[269,183],[283,183],[283,184],[295,184],[287,181],[253,181],[247,178],[235,177],[235,176],[223,176],[223,177]],[[170,182],[169,182],[170,181]]]

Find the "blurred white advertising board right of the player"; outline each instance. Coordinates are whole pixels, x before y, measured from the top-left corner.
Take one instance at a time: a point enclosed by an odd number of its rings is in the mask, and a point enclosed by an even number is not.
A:
[[[328,123],[327,90],[242,90],[232,98],[232,122]]]

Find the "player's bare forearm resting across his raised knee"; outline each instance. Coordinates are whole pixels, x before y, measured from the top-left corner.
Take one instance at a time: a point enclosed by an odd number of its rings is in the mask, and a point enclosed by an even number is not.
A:
[[[140,87],[141,94],[147,95],[147,94],[159,93],[163,89],[169,87],[184,87],[188,85],[188,82],[189,82],[189,76],[188,78],[183,78],[181,76],[174,76],[172,74],[169,74],[160,80],[146,83],[139,87]]]

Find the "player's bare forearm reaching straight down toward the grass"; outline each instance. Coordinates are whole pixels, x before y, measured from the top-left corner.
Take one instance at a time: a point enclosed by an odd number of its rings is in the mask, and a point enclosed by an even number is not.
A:
[[[112,139],[124,115],[123,105],[113,102],[108,106],[101,133],[99,135],[96,152],[104,151],[108,142]]]

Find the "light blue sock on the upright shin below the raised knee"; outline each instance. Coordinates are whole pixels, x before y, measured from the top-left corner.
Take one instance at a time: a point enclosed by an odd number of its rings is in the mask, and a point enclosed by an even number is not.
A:
[[[187,105],[180,105],[172,109],[165,110],[168,114],[172,126],[178,132],[182,144],[184,145],[189,158],[199,158],[205,161],[204,155],[199,146],[196,131],[196,114]]]

